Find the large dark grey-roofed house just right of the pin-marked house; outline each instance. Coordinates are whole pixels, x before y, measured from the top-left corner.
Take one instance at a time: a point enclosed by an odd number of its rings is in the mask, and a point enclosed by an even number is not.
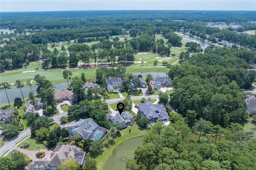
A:
[[[142,116],[147,117],[151,123],[157,121],[168,122],[169,119],[163,104],[154,105],[151,101],[145,101],[145,103],[138,105],[138,111],[141,112]]]

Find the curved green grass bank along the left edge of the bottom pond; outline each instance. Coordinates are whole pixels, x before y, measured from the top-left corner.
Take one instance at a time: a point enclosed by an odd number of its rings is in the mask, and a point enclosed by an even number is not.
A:
[[[131,133],[129,133],[129,129],[131,129]],[[138,125],[134,124],[133,126],[131,126],[131,128],[126,128],[122,130],[121,133],[122,133],[122,137],[116,138],[115,145],[104,149],[102,155],[98,156],[95,159],[97,161],[97,167],[99,170],[103,169],[107,159],[113,154],[113,150],[116,148],[116,146],[118,146],[120,143],[126,140],[145,135],[147,131],[140,130],[138,128]],[[103,143],[107,143],[107,139],[105,139]]]

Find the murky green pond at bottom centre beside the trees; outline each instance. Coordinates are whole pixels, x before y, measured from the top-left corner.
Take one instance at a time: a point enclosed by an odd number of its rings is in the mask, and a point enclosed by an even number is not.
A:
[[[137,137],[120,143],[113,151],[105,166],[104,170],[125,169],[127,159],[133,159],[135,149],[142,144],[143,137]]]

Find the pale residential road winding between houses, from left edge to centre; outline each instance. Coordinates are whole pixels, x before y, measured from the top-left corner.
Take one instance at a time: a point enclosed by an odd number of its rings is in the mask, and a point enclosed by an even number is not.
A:
[[[135,99],[142,99],[142,98],[158,98],[158,95],[151,95],[151,96],[131,96],[132,100]],[[115,99],[108,99],[106,100],[106,103],[115,103],[117,101],[123,100],[125,97],[122,98],[115,98]],[[54,122],[60,123],[59,118],[62,116],[67,116],[66,112],[62,112],[58,115],[54,115],[52,118]],[[9,140],[8,142],[5,142],[5,144],[0,148],[0,156],[2,156],[7,150],[10,150],[13,146],[15,146],[15,143],[18,143],[21,139],[25,138],[27,135],[30,135],[31,131],[30,128],[21,132],[19,135],[14,137],[13,139]]]

